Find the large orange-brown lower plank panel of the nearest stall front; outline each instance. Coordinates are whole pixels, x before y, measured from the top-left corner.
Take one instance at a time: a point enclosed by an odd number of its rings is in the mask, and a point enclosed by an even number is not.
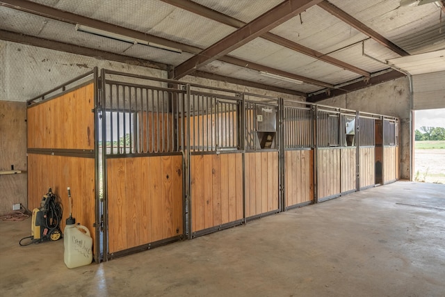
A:
[[[106,161],[108,252],[184,233],[182,156]]]

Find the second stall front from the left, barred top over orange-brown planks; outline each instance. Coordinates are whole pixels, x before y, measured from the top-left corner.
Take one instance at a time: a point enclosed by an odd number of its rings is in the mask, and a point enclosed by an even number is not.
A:
[[[228,90],[191,86],[186,118],[190,237],[243,223],[243,105]]]

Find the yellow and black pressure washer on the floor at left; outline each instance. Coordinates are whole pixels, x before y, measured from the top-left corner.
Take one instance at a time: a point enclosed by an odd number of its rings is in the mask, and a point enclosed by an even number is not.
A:
[[[33,209],[31,236],[21,239],[19,245],[28,246],[31,243],[61,239],[60,221],[62,220],[62,215],[63,207],[60,198],[49,188],[48,193],[43,195],[40,208]],[[24,239],[30,239],[30,241],[22,243]]]

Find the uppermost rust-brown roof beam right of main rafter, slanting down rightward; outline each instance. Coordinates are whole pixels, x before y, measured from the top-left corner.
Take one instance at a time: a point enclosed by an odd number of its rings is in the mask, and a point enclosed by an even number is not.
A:
[[[360,22],[358,19],[355,19],[353,16],[348,15],[343,10],[338,8],[337,6],[334,6],[334,4],[328,2],[328,1],[322,1],[321,3],[318,3],[318,6],[326,10],[331,15],[334,15],[335,17],[338,17],[346,24],[349,24],[350,26],[354,27],[358,31],[364,33],[365,35],[368,35],[373,40],[379,42],[381,45],[384,45],[388,49],[391,49],[391,51],[396,52],[397,54],[401,56],[410,56],[410,54],[407,53],[404,49],[401,47],[398,47],[398,45],[394,44],[393,42],[387,40],[387,38],[383,37],[379,33],[375,32],[373,29],[369,28],[369,26],[366,26],[362,22]]]

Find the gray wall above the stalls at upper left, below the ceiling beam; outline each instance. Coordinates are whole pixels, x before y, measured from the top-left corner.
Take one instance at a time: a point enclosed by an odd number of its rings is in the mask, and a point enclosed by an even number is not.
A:
[[[167,78],[153,68],[99,60],[52,49],[0,40],[0,100],[26,101],[55,88],[94,67]]]

